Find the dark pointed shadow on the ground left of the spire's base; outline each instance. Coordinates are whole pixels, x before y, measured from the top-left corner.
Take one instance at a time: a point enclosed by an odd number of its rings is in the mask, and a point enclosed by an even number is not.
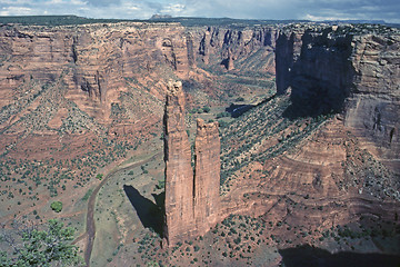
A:
[[[123,186],[130,202],[138,214],[144,228],[152,228],[157,234],[162,236],[163,228],[163,202],[164,192],[159,195],[152,194],[156,204],[147,199],[132,186]]]

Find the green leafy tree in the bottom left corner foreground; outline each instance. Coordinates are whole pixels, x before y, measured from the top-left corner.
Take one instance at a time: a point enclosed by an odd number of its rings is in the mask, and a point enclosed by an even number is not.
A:
[[[74,230],[63,228],[63,222],[51,219],[46,230],[39,230],[34,225],[21,226],[13,224],[13,234],[3,233],[2,240],[10,247],[0,250],[0,267],[28,266],[81,266],[83,259],[78,255],[78,247],[70,245]]]

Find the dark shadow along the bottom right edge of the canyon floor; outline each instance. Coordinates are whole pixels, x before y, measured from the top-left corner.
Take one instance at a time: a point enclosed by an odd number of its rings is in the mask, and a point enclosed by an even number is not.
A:
[[[308,245],[279,250],[286,267],[400,267],[400,256],[383,254],[338,253]]]

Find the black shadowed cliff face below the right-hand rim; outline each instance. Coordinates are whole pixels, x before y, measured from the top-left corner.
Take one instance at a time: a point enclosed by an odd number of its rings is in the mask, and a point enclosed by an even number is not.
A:
[[[278,93],[290,87],[292,101],[308,101],[311,115],[340,111],[353,86],[351,40],[331,28],[283,31],[276,52]]]

